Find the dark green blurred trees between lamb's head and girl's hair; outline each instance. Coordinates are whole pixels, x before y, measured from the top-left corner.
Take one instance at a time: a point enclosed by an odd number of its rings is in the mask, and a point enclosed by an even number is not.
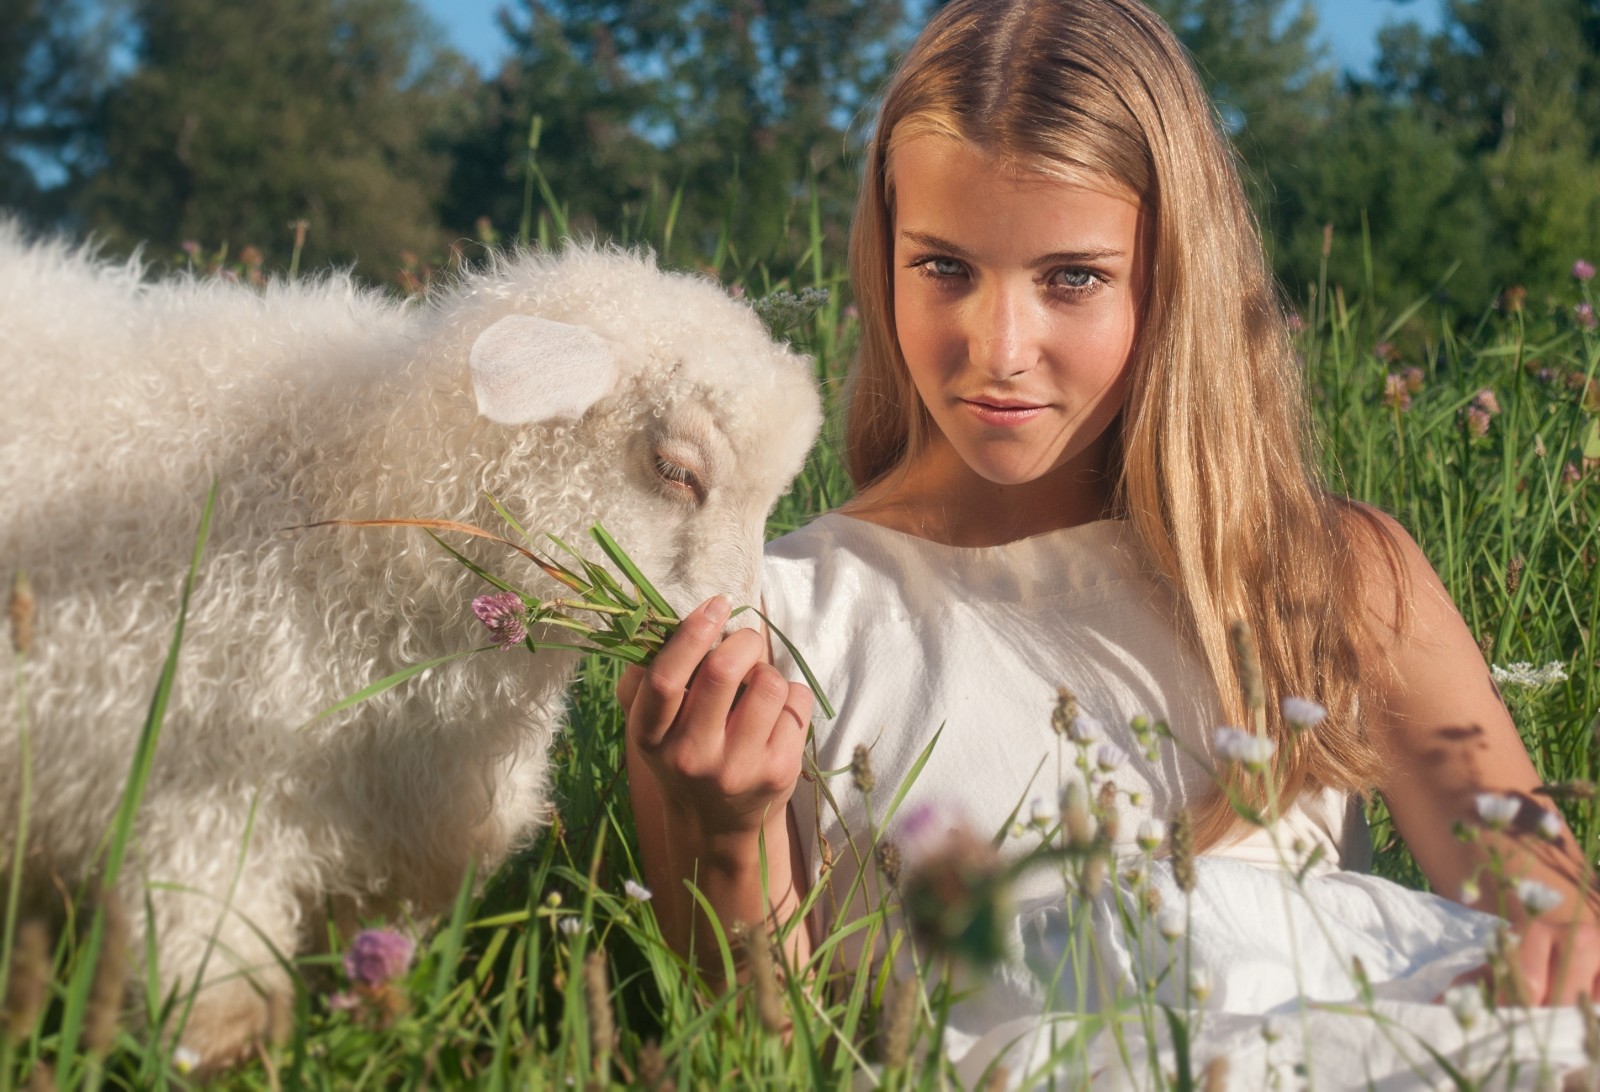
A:
[[[867,98],[909,35],[898,0],[520,0],[512,59],[462,141],[454,223],[522,221],[530,120],[574,227],[765,255],[814,186],[842,234]]]

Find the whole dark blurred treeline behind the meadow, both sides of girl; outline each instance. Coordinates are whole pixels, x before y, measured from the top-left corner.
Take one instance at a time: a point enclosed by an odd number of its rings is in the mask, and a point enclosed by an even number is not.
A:
[[[1600,0],[1451,0],[1370,78],[1299,0],[1155,0],[1216,96],[1293,296],[1530,301],[1600,255]],[[1405,3],[1397,2],[1397,16]],[[856,152],[923,0],[509,0],[480,75],[411,0],[0,0],[0,205],[387,280],[563,226],[677,263],[843,253]],[[795,243],[794,240],[802,240]],[[1448,274],[1448,280],[1445,280]],[[1440,282],[1443,280],[1443,288]]]

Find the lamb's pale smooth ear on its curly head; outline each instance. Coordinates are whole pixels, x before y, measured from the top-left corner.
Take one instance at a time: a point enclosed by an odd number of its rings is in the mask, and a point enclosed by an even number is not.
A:
[[[616,349],[587,327],[507,315],[472,343],[472,392],[496,424],[578,420],[618,381]]]

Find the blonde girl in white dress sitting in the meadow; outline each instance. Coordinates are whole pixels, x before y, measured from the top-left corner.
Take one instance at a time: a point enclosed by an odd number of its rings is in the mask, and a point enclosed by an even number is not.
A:
[[[1029,797],[1053,799],[1064,685],[1080,711],[1069,727],[1115,769],[1114,850],[1139,855],[1139,833],[1157,829],[1141,820],[1192,817],[1198,885],[1187,893],[1166,861],[1149,882],[1189,908],[1192,959],[1211,978],[1197,1052],[1269,1049],[1262,1017],[1299,1012],[1298,998],[1350,1002],[1352,954],[1381,1015],[1414,1034],[1370,1012],[1312,1014],[1315,1028],[1296,1025],[1299,1060],[1325,1087],[1403,1079],[1427,1057],[1418,1039],[1461,1042],[1470,1022],[1434,1002],[1485,962],[1498,919],[1349,871],[1365,865],[1357,794],[1373,789],[1435,890],[1510,919],[1522,999],[1600,993],[1584,863],[1533,796],[1472,636],[1406,533],[1310,469],[1261,240],[1214,110],[1154,14],[1138,0],[942,8],[886,90],[851,274],[858,495],[768,549],[766,608],[838,708],[814,725],[814,773],[798,780],[813,695],[768,663],[762,634],[722,639],[726,602],[698,608],[622,680],[646,876],[675,943],[714,951],[686,879],[723,922],[770,925],[829,884],[789,933],[802,961],[813,933],[864,913],[882,892],[869,877],[842,905],[872,871],[845,847],[934,733],[906,809],[955,802],[987,836]],[[1261,802],[1259,778],[1213,745],[1216,725],[1253,724],[1234,621],[1254,634],[1262,730],[1283,757],[1270,829],[1218,783]],[[1306,730],[1278,717],[1296,695],[1326,717]],[[1146,757],[1134,717],[1174,740]],[[821,773],[858,746],[886,789],[877,815],[870,794]],[[1483,794],[1514,812],[1493,829]],[[1458,821],[1480,837],[1458,839]],[[1510,881],[1482,874],[1491,852],[1560,905],[1530,914]],[[1302,871],[1293,884],[1285,860]],[[946,1028],[970,1078],[1002,1055],[1037,1060],[1027,1030],[1053,998],[1106,988],[1051,994],[1059,873],[1024,879],[1016,903],[1014,958]],[[1133,977],[1136,943],[1096,921],[1098,964]],[[1530,1052],[1538,1041],[1557,1068],[1582,1063],[1576,1010],[1544,1015],[1534,1026],[1523,1012]]]

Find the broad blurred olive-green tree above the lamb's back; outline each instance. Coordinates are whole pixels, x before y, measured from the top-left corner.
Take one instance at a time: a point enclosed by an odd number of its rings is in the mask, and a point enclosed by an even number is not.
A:
[[[88,223],[114,245],[194,239],[381,275],[440,240],[440,131],[466,62],[408,0],[134,0],[136,66],[99,118]]]

